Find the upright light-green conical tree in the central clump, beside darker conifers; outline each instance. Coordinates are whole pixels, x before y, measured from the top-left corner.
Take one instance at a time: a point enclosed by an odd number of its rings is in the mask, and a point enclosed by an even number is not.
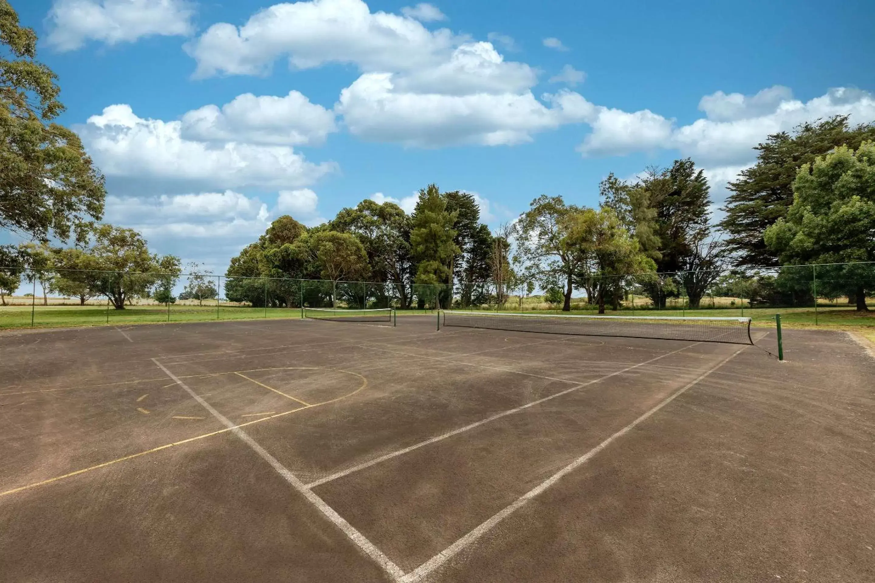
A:
[[[447,285],[453,260],[461,252],[452,228],[458,213],[447,212],[446,200],[436,184],[419,191],[410,229],[410,248],[417,261],[415,281],[420,285]]]

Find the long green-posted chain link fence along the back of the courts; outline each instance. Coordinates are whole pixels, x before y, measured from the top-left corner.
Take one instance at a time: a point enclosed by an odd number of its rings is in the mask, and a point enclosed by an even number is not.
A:
[[[294,318],[301,309],[561,311],[565,281],[321,281],[0,267],[0,328]],[[577,274],[572,312],[633,316],[804,313],[812,323],[875,309],[875,262],[673,274]],[[556,290],[559,290],[558,292]],[[713,311],[712,311],[713,310]]]

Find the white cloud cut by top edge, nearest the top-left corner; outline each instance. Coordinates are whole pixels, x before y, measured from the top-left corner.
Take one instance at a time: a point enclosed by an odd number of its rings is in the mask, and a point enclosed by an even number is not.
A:
[[[155,35],[187,36],[193,17],[188,0],[55,0],[46,18],[46,41],[59,51],[74,51],[89,40],[117,45]]]

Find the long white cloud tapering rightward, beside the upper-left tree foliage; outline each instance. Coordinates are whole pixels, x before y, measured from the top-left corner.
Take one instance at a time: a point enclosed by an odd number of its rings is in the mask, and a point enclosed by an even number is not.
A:
[[[128,105],[104,108],[77,130],[104,174],[126,179],[130,188],[150,182],[187,190],[294,188],[312,184],[335,168],[332,163],[310,163],[287,146],[187,140],[181,121],[142,119]]]

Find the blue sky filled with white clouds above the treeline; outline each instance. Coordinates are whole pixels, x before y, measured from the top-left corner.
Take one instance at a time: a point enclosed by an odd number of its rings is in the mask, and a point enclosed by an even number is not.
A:
[[[279,214],[409,207],[432,182],[495,226],[691,156],[718,205],[769,133],[875,120],[862,0],[11,4],[107,176],[105,219],[216,273]]]

